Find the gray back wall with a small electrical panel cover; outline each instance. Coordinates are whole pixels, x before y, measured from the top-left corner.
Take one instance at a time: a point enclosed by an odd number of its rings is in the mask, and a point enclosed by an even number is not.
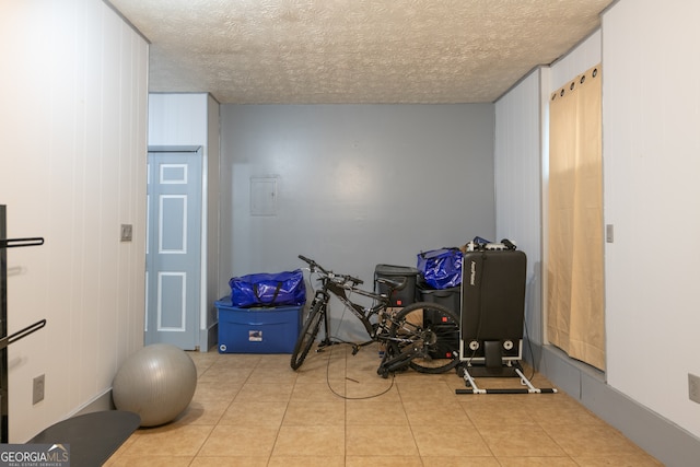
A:
[[[492,104],[223,105],[221,278],[303,254],[371,288],[377,264],[493,240],[493,127]],[[277,179],[275,215],[252,215],[252,177]],[[347,315],[337,334],[359,330]]]

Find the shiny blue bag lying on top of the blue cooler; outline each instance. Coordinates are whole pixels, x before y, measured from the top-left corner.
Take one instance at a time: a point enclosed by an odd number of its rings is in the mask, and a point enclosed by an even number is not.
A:
[[[241,308],[300,306],[306,302],[306,288],[301,269],[231,278],[229,285],[231,287],[231,303]]]

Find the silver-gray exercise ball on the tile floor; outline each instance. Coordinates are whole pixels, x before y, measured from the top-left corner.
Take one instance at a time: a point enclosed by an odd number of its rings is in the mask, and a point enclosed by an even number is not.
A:
[[[196,388],[192,359],[170,343],[153,343],[127,358],[112,383],[112,397],[117,409],[138,413],[141,427],[156,427],[180,415]]]

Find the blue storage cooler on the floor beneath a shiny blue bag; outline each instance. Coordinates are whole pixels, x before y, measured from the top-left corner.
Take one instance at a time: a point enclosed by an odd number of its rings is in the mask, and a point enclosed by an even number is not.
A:
[[[219,312],[219,353],[292,353],[303,306],[240,308],[231,296],[214,303]]]

